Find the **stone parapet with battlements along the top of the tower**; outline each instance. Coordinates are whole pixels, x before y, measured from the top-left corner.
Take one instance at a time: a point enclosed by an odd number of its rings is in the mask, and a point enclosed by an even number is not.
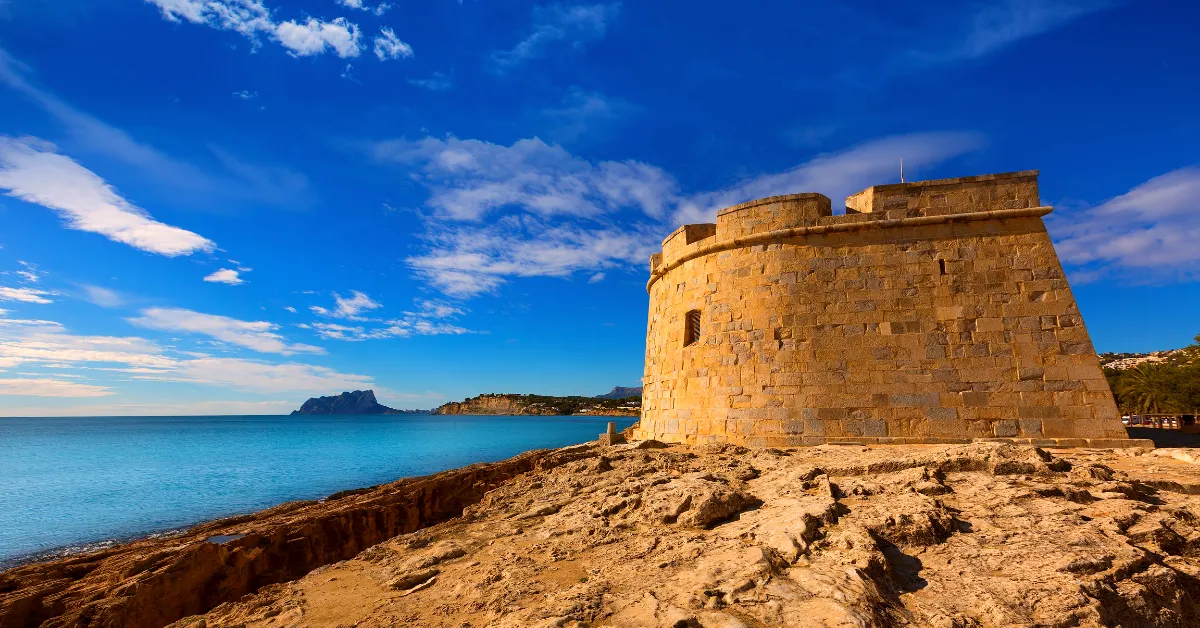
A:
[[[684,225],[672,232],[662,240],[662,252],[650,257],[652,282],[666,267],[706,251],[757,244],[779,234],[1043,216],[1050,211],[1040,207],[1038,171],[875,185],[846,198],[846,213],[836,216],[824,195],[772,196],[721,209],[716,223]]]

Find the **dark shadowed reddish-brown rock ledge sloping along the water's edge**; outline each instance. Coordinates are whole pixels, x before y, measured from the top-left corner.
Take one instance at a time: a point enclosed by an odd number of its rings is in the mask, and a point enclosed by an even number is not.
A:
[[[17,567],[0,573],[0,626],[166,626],[458,516],[504,482],[570,459],[528,451]]]

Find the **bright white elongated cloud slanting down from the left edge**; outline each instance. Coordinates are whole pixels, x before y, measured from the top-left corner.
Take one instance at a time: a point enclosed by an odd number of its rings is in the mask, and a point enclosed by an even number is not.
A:
[[[98,233],[151,253],[174,257],[216,246],[196,233],[151,219],[95,173],[40,139],[0,136],[0,189],[55,210],[67,228]]]

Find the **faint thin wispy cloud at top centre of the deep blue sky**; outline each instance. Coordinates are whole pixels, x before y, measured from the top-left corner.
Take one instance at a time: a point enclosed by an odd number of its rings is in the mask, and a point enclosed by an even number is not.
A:
[[[550,5],[533,10],[533,32],[508,50],[492,53],[492,66],[504,72],[541,56],[554,42],[569,42],[580,48],[584,42],[604,37],[608,23],[617,18],[620,4]]]

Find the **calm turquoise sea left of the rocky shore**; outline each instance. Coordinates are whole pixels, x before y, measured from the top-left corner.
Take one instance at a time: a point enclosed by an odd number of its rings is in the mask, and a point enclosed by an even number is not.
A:
[[[0,418],[0,567],[590,441],[608,417]]]

